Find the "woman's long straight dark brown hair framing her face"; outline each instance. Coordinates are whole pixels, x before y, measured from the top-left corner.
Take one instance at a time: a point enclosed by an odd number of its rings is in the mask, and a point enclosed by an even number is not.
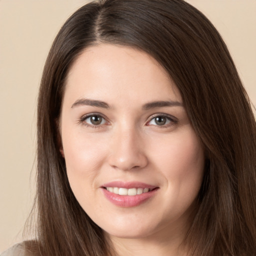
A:
[[[221,36],[183,0],[103,0],[79,8],[49,51],[37,111],[37,244],[41,255],[114,255],[76,201],[59,152],[57,120],[67,72],[90,45],[112,43],[153,56],[178,87],[205,148],[205,173],[186,235],[190,255],[256,251],[256,127]]]

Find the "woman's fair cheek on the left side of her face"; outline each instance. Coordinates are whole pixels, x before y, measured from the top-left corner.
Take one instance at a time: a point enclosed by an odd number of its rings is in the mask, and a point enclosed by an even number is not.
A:
[[[105,155],[105,143],[99,141],[99,136],[85,136],[79,130],[72,131],[68,127],[62,130],[67,177],[78,201],[83,198],[84,190],[89,194],[95,189],[95,180]]]

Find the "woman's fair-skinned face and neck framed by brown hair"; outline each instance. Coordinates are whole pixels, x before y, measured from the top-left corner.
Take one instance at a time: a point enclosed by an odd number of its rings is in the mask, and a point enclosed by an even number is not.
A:
[[[85,49],[67,76],[60,135],[72,191],[119,255],[183,255],[204,154],[155,59],[126,46]]]

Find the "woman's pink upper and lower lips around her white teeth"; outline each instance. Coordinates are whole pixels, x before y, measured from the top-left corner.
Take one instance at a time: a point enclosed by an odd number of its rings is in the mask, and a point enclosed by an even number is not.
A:
[[[107,191],[105,187],[123,187],[123,188],[150,188],[153,189],[147,193],[137,194],[137,195],[119,195]],[[141,183],[141,182],[122,182],[122,181],[113,181],[103,184],[101,190],[104,196],[113,204],[120,207],[134,207],[150,199],[158,190],[157,186]]]

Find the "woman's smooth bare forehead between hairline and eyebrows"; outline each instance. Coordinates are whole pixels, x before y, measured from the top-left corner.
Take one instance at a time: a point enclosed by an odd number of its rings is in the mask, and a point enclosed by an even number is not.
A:
[[[180,94],[165,69],[147,53],[127,46],[86,48],[71,66],[65,98],[104,101],[178,100]]]

